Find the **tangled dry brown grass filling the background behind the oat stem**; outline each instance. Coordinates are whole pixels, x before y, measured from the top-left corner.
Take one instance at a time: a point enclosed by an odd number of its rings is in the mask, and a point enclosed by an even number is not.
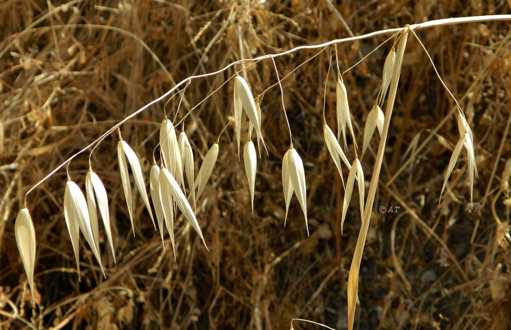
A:
[[[3,328],[283,329],[289,328],[293,317],[345,328],[347,273],[360,216],[358,198],[353,198],[341,237],[342,184],[323,142],[321,122],[330,49],[282,81],[293,142],[305,165],[310,237],[296,198],[284,227],[281,162],[289,136],[278,86],[262,100],[269,155],[259,160],[253,215],[234,125],[220,138],[218,162],[197,205],[209,252],[180,217],[176,261],[167,233],[164,253],[140,196],[133,238],[115,156],[117,134],[107,137],[91,159],[110,197],[117,263],[100,230],[106,280],[82,237],[82,282],[78,281],[62,210],[65,170],[59,171],[28,196],[37,236],[38,307],[32,310],[14,238],[16,213],[28,189],[62,161],[192,74],[215,71],[241,58],[407,23],[511,11],[504,0],[342,4],[75,0],[65,8],[60,5],[41,0],[0,3]],[[500,178],[511,157],[509,26],[472,23],[418,34],[473,128],[479,179],[471,205],[462,159],[450,179],[450,190],[438,204],[451,155],[446,146],[453,147],[458,139],[456,118],[452,99],[420,44],[410,37],[362,259],[356,323],[360,329],[507,329],[511,326],[511,300],[505,294],[511,282],[510,251],[499,246],[491,205],[499,194],[495,213],[501,221],[508,219],[504,205],[508,196],[500,191]],[[340,45],[339,65],[355,64],[384,40]],[[344,77],[360,145],[389,47],[380,48]],[[303,50],[277,58],[280,77],[317,53]],[[231,69],[193,81],[177,117],[182,118],[233,73]],[[275,84],[271,60],[250,67],[247,79],[255,95]],[[335,81],[331,80],[326,97],[327,119],[333,125]],[[229,82],[184,121],[196,171],[234,116],[232,94],[233,82]],[[141,159],[146,181],[159,124],[165,111],[174,118],[178,99],[174,97],[165,110],[164,103],[150,107],[122,128],[123,138]],[[445,140],[436,135],[428,139],[435,129]],[[420,137],[414,140],[417,134]],[[405,155],[413,141],[427,143]],[[376,150],[375,141],[371,146]],[[353,148],[349,150],[352,160]],[[87,156],[69,167],[82,189]],[[366,180],[373,162],[369,150],[362,159]],[[400,209],[381,214],[379,207]],[[295,329],[311,327],[294,323]]]

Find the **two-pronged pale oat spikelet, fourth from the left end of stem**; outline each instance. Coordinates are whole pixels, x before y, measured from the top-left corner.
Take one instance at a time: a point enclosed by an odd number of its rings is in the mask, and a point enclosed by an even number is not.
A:
[[[149,198],[147,197],[146,184],[144,182],[144,177],[142,176],[142,168],[140,166],[140,161],[138,161],[138,157],[136,157],[135,152],[124,140],[119,141],[117,147],[117,156],[119,159],[119,169],[121,170],[121,180],[123,182],[124,195],[126,196],[126,202],[128,204],[128,211],[131,220],[131,228],[133,230],[133,236],[135,236],[135,227],[133,225],[133,207],[131,201],[131,184],[129,182],[129,173],[128,166],[126,164],[126,158],[128,158],[129,165],[131,167],[131,172],[133,172],[133,177],[135,179],[135,185],[142,196],[142,200],[146,205],[147,211],[149,212],[149,216],[151,217],[151,221],[153,222],[154,229],[156,230],[156,224],[154,223],[153,212],[151,211],[151,207],[149,206]]]

